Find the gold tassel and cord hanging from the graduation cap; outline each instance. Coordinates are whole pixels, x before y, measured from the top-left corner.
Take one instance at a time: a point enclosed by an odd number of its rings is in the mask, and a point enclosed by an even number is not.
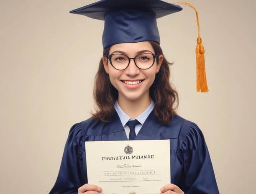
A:
[[[197,17],[197,27],[198,27],[198,38],[197,38],[197,47],[196,47],[196,61],[197,61],[197,92],[208,92],[207,87],[206,73],[205,73],[205,48],[202,45],[202,38],[200,37],[200,25],[198,20],[198,14],[195,7],[189,3],[177,2],[175,4],[187,5],[195,10]]]

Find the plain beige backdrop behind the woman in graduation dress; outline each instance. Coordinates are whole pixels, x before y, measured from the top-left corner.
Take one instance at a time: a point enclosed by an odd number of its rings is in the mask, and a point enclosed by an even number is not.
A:
[[[69,128],[93,110],[102,21],[69,14],[94,0],[1,0],[0,193],[45,194]],[[173,3],[169,1],[170,3]],[[256,1],[190,0],[199,12],[209,93],[195,92],[195,12],[158,20],[179,114],[205,134],[220,193],[254,193]]]

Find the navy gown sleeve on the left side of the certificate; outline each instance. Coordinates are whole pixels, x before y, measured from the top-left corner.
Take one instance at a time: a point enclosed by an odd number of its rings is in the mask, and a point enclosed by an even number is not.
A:
[[[59,174],[49,194],[77,194],[77,189],[85,184],[81,152],[83,139],[81,123],[75,124],[69,131]]]

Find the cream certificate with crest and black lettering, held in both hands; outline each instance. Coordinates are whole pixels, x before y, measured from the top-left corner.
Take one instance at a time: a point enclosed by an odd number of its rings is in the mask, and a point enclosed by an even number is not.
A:
[[[102,194],[159,194],[171,183],[170,140],[85,142],[88,183]]]

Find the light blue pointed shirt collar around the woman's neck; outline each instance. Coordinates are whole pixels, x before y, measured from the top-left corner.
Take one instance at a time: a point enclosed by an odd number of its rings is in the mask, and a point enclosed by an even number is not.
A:
[[[114,104],[115,110],[118,113],[118,116],[120,117],[121,123],[123,125],[123,127],[125,126],[125,124],[131,120],[131,117],[129,117],[119,106],[118,101],[115,101]],[[151,104],[147,107],[146,110],[144,110],[144,112],[141,113],[141,115],[139,115],[136,119],[138,120],[138,122],[141,123],[141,125],[143,125],[143,123],[145,122],[145,120],[147,119],[148,115],[152,112],[152,110],[154,110],[155,107],[155,103],[154,101],[151,101]]]

